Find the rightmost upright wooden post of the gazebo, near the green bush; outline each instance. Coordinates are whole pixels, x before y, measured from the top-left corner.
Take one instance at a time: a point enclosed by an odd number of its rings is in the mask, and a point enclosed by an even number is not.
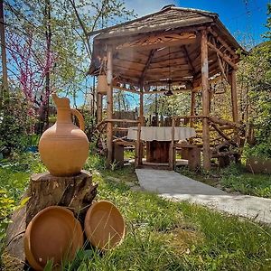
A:
[[[232,120],[238,123],[238,96],[237,96],[237,83],[236,83],[236,70],[232,70],[229,76],[230,89],[231,89],[231,109],[232,109]],[[240,138],[238,136],[238,130],[235,130],[235,140],[237,144],[240,144]]]

